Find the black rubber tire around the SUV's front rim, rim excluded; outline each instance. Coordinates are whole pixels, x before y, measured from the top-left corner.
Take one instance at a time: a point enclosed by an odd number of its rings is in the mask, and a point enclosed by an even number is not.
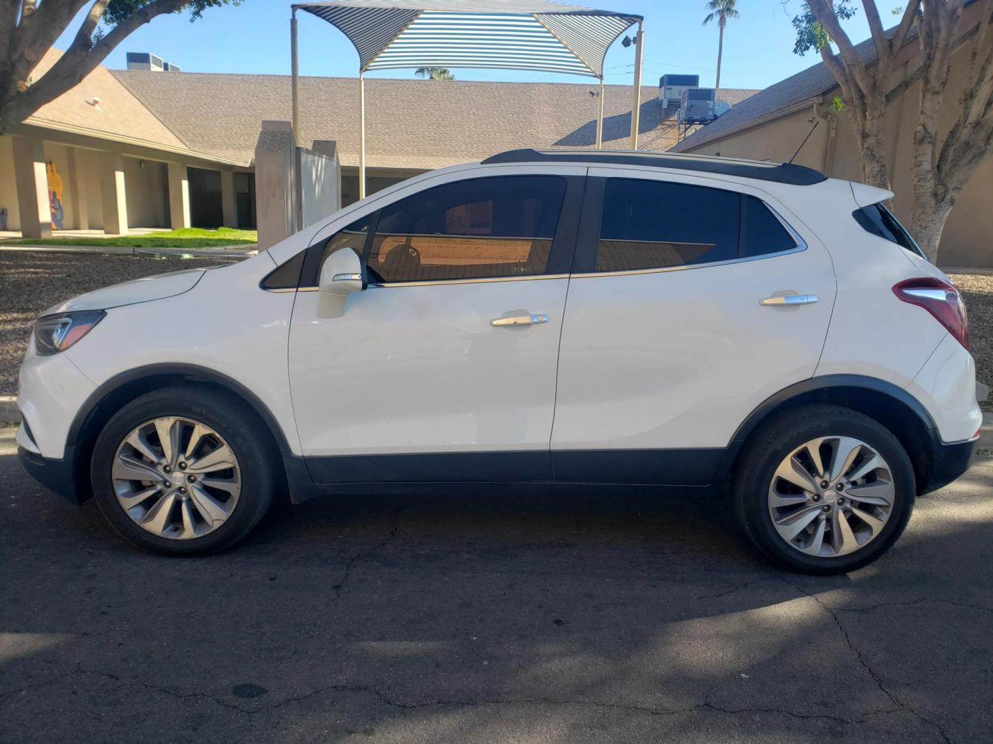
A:
[[[159,417],[189,417],[219,434],[241,468],[238,502],[222,525],[203,537],[170,540],[152,535],[124,512],[114,493],[110,470],[117,447],[131,431]],[[219,553],[244,538],[265,515],[281,472],[278,453],[246,406],[233,396],[195,385],[152,391],[122,407],[96,438],[91,459],[93,496],[103,517],[122,537],[169,556]]]

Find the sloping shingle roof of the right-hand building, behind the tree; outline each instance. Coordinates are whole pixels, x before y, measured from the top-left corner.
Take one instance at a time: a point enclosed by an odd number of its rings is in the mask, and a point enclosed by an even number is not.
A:
[[[896,28],[888,29],[887,36],[892,36],[895,31]],[[916,38],[916,34],[911,34],[908,43]],[[855,50],[863,62],[868,63],[876,59],[876,46],[872,39],[855,45]],[[830,70],[824,66],[823,62],[818,62],[759,91],[740,106],[734,106],[716,121],[701,127],[672,149],[684,152],[716,135],[745,126],[749,122],[775,114],[777,111],[782,111],[803,101],[811,100],[836,87],[838,87],[838,82]]]

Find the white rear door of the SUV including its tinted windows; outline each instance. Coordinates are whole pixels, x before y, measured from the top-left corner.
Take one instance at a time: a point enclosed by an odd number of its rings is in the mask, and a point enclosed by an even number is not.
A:
[[[706,485],[747,416],[813,374],[830,257],[758,186],[591,168],[586,194],[556,478]]]

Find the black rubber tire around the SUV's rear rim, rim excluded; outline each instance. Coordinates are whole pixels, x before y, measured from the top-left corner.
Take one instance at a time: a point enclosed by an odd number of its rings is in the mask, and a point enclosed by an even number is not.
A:
[[[805,441],[827,435],[855,436],[890,466],[894,505],[880,534],[854,553],[816,557],[788,545],[773,525],[769,489],[780,462]],[[738,523],[752,544],[777,565],[799,573],[831,575],[861,568],[882,556],[904,532],[914,509],[914,467],[900,440],[868,416],[840,406],[801,406],[775,416],[752,434],[738,460],[732,493]]]

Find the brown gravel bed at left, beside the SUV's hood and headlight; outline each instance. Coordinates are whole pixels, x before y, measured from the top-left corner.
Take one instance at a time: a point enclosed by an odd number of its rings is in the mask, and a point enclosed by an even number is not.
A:
[[[236,260],[0,251],[0,395],[17,393],[17,369],[32,323],[53,305],[131,279]]]

